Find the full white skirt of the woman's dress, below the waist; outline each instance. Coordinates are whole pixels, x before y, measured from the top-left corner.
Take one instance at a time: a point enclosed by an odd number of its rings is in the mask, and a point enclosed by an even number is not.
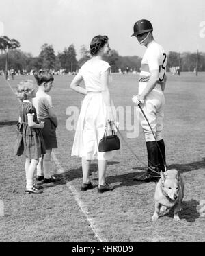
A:
[[[113,102],[111,107],[115,109]],[[71,156],[85,157],[87,160],[109,160],[115,155],[116,151],[98,151],[99,141],[105,132],[107,113],[102,93],[87,93],[77,121]]]

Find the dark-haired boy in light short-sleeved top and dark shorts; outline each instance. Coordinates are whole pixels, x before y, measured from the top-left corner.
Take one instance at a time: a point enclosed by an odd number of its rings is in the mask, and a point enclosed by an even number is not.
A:
[[[34,73],[34,77],[38,84],[38,91],[36,97],[33,98],[33,105],[36,108],[38,121],[44,121],[42,135],[46,146],[46,154],[37,165],[36,179],[44,183],[51,183],[59,181],[59,178],[51,176],[51,152],[53,148],[57,148],[57,116],[54,113],[52,99],[48,93],[53,87],[54,78],[51,73],[44,70]]]

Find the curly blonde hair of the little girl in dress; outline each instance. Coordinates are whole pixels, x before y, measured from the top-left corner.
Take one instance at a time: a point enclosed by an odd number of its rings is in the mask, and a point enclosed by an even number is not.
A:
[[[20,100],[27,100],[28,96],[35,90],[32,80],[25,80],[17,84],[16,96]]]

